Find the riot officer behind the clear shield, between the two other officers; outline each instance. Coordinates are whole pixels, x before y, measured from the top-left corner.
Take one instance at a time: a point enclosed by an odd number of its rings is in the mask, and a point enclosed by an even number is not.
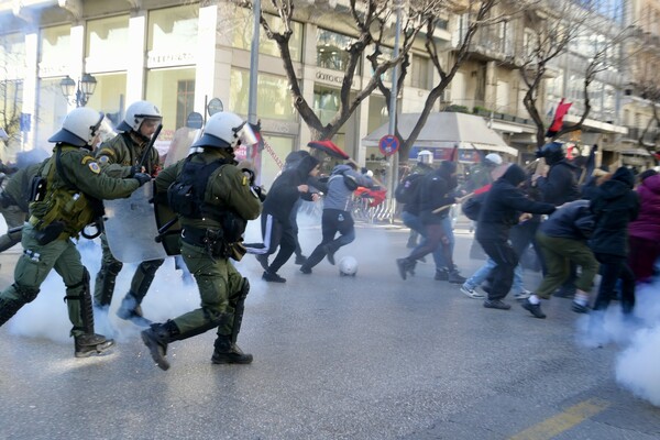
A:
[[[160,166],[158,152],[153,146],[150,147],[148,143],[162,120],[156,106],[148,101],[130,105],[123,121],[117,127],[121,133],[101,144],[97,152],[96,156],[103,173],[113,177],[125,177],[138,170],[155,176]],[[123,264],[110,252],[105,233],[101,234],[101,249],[103,256],[96,277],[94,297],[95,305],[106,310],[112,301],[117,275]],[[151,323],[142,316],[140,304],[162,264],[163,260],[151,260],[138,266],[131,288],[117,310],[118,317],[143,327]]]

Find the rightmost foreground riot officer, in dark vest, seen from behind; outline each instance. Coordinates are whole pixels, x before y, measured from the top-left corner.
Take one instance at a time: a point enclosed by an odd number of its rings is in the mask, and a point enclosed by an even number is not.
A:
[[[237,345],[250,284],[229,262],[229,257],[242,258],[246,222],[261,213],[260,189],[235,166],[233,148],[241,142],[256,142],[246,122],[233,113],[216,113],[193,144],[190,155],[155,179],[156,198],[166,193],[169,207],[178,215],[182,256],[201,297],[201,308],[153,323],[142,332],[162,370],[169,367],[165,358],[169,342],[211,329],[218,334],[212,363],[252,362],[252,354],[244,354]]]

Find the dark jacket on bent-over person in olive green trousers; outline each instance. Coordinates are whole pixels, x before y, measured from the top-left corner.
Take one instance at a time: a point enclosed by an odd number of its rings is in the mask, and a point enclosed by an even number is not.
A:
[[[548,237],[586,241],[592,235],[594,226],[588,200],[575,200],[554,211],[541,223],[540,230]]]

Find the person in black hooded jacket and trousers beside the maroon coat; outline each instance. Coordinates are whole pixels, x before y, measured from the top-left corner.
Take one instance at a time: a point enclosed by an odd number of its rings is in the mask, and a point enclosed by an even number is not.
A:
[[[627,263],[628,223],[639,213],[639,199],[632,190],[635,176],[622,166],[612,178],[598,187],[591,200],[595,228],[590,246],[601,263],[601,286],[594,310],[606,309],[614,297],[617,279],[622,279],[622,309],[625,315],[635,308],[635,274]]]

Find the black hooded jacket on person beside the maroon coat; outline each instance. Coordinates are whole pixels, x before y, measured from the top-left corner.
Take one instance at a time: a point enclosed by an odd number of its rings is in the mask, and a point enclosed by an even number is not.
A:
[[[590,241],[594,253],[628,255],[628,223],[639,213],[639,199],[632,190],[635,176],[625,167],[601,185],[591,200],[596,226]]]

